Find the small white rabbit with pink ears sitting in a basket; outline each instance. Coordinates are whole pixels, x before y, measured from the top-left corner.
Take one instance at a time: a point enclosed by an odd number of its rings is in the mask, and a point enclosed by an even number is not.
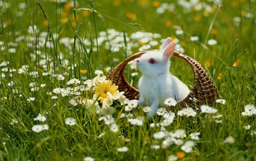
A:
[[[176,42],[171,38],[165,39],[160,51],[150,51],[137,59],[139,70],[143,73],[139,80],[139,103],[151,106],[148,117],[153,117],[165,99],[181,100],[188,93],[188,87],[169,72],[169,58],[174,54]]]

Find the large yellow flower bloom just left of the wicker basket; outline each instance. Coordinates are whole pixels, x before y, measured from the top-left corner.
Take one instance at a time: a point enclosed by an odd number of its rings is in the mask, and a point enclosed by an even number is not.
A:
[[[117,89],[118,86],[113,84],[111,81],[103,81],[94,88],[94,92],[96,96],[99,96],[98,100],[100,100],[100,102],[102,103],[103,99],[105,99],[108,96],[106,93],[109,92],[112,95],[115,95],[118,92]]]

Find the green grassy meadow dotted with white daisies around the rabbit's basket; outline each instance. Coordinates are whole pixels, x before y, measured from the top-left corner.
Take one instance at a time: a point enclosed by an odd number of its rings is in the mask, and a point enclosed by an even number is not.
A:
[[[256,160],[255,0],[0,0],[0,11],[0,160]],[[167,37],[220,99],[148,118],[106,78]],[[191,88],[189,65],[170,60]],[[130,62],[129,83],[140,76]]]

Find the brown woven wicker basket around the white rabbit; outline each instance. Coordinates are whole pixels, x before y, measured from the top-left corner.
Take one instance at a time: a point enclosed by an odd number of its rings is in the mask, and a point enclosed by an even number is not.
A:
[[[115,68],[113,68],[108,77],[109,80],[118,85],[119,91],[124,91],[124,96],[129,100],[138,99],[139,90],[132,87],[125,79],[125,67],[128,62],[140,57],[142,54],[146,52],[148,51],[136,53],[131,57],[125,59]],[[202,104],[214,104],[215,99],[219,98],[219,92],[216,85],[214,84],[212,79],[207,75],[206,71],[201,66],[201,64],[193,58],[190,58],[178,52],[174,52],[174,56],[185,60],[191,66],[194,74],[193,88],[190,90],[190,93],[186,98],[178,101],[178,105],[180,107],[186,107],[186,105],[188,105],[189,107],[196,107],[197,105]]]

